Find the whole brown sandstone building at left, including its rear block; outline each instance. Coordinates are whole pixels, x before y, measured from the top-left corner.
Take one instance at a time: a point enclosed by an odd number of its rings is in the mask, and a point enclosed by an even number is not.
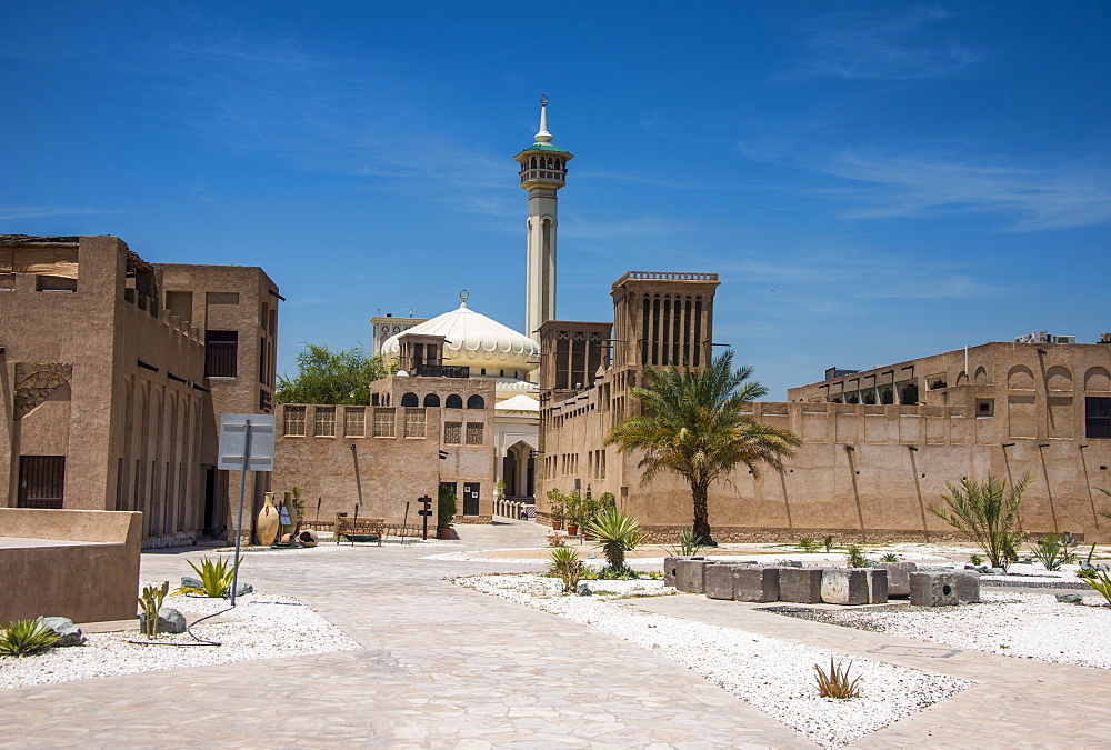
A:
[[[271,409],[277,293],[114,237],[0,237],[4,504],[139,510],[147,547],[222,529],[218,416]]]

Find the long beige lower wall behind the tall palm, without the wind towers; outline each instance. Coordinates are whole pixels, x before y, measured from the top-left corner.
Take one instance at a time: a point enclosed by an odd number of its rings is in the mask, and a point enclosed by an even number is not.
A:
[[[975,418],[971,408],[752,406],[758,421],[791,429],[804,442],[784,461],[782,473],[764,468],[755,478],[745,470],[713,486],[711,524],[723,533],[782,529],[788,537],[834,530],[919,539],[924,532],[949,534],[952,529],[927,508],[942,502],[948,482],[990,471],[1012,480],[1032,477],[1022,507],[1028,531],[1111,538],[1111,521],[1098,516],[1111,502],[1094,489],[1111,487],[1108,441],[1010,438],[1002,420]],[[543,491],[569,491],[578,478],[595,496],[613,492],[648,526],[690,524],[690,490],[681,480],[660,477],[641,484],[640,456],[601,448],[611,421],[605,412],[584,410],[559,421],[561,428],[546,434]],[[591,471],[592,450],[605,451],[605,477]],[[538,497],[538,502],[547,512],[547,499]]]

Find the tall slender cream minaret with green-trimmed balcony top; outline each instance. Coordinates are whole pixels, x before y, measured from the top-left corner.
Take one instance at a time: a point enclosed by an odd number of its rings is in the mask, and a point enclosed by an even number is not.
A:
[[[521,187],[529,191],[524,334],[534,340],[540,327],[556,318],[556,191],[567,184],[567,162],[573,158],[551,140],[548,97],[540,97],[536,142],[513,157],[521,164]]]

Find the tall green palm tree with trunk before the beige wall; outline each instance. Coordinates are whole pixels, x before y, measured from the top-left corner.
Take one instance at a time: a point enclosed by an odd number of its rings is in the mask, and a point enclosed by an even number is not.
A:
[[[779,469],[802,441],[790,430],[769,427],[741,413],[749,401],[768,389],[750,381],[751,367],[733,370],[733,352],[715,357],[704,370],[674,366],[647,370],[648,387],[633,388],[643,414],[614,427],[607,446],[619,452],[644,451],[641,483],[657,474],[675,473],[691,487],[694,536],[713,544],[707,496],[710,486],[744,466],[753,477],[764,463]]]

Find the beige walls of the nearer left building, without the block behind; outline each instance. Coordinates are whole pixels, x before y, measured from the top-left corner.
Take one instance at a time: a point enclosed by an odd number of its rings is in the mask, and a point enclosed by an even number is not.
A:
[[[203,380],[203,347],[144,293],[157,272],[119,239],[29,238],[6,248],[34,257],[51,244],[76,250],[76,291],[39,291],[43,268],[17,271],[0,291],[10,337],[0,356],[4,504],[18,502],[20,457],[64,456],[66,508],[142,510],[149,536],[196,529],[184,511],[199,430],[181,413],[196,413],[204,398],[193,388]],[[141,280],[129,273],[137,268],[146,269]],[[147,398],[140,416],[138,392]]]

